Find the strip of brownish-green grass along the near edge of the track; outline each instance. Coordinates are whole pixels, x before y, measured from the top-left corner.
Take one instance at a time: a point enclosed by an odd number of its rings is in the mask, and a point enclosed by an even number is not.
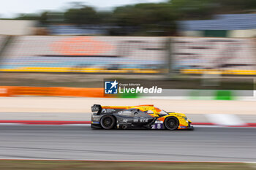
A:
[[[3,170],[252,170],[250,163],[152,163],[152,162],[110,162],[110,161],[0,161]]]

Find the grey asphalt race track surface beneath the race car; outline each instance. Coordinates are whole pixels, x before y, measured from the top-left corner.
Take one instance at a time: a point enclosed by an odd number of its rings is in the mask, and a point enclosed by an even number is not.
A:
[[[0,158],[256,161],[256,128],[91,130],[85,125],[0,125]]]

